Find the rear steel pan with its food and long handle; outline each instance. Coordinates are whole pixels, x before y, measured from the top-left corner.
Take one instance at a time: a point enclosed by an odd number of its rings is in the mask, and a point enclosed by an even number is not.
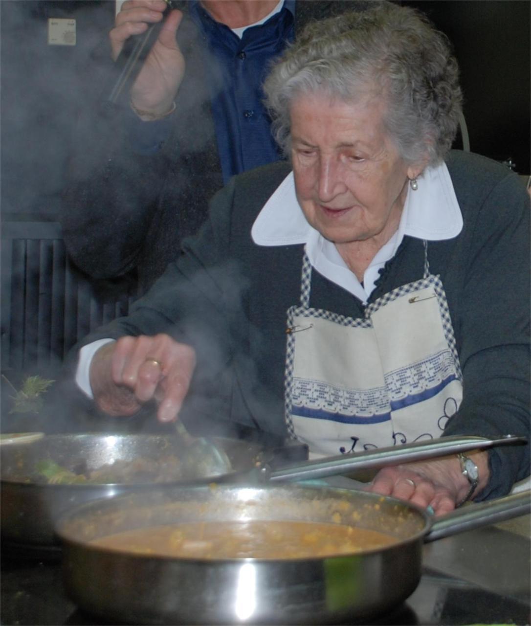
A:
[[[422,458],[497,445],[520,445],[525,438],[445,437],[427,442],[307,461],[302,444],[269,439],[214,438],[230,459],[222,476],[195,478],[183,471],[180,443],[172,436],[143,434],[49,435],[31,443],[3,446],[1,531],[3,540],[24,545],[56,545],[54,521],[74,506],[154,485],[242,483],[260,485],[341,475]],[[287,461],[294,463],[287,464]],[[195,463],[192,469],[195,468]],[[190,469],[189,467],[187,468]]]

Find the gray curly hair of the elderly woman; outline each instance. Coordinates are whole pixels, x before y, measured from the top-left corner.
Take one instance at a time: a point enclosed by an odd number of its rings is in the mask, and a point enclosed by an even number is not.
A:
[[[443,160],[461,114],[458,67],[446,36],[415,9],[386,2],[309,24],[272,66],[266,106],[287,156],[291,102],[316,92],[346,102],[385,98],[386,130],[410,164]]]

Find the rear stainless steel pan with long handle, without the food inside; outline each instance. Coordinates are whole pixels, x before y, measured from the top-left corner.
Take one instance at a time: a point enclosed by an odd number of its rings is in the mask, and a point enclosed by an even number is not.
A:
[[[324,478],[358,469],[379,468],[389,464],[433,458],[497,445],[522,444],[525,438],[447,437],[432,441],[369,450],[355,455],[340,455],[317,461],[299,461],[286,468],[276,468],[274,461],[282,454],[255,443],[239,439],[215,438],[225,450],[233,471],[224,476],[182,480],[179,476],[167,486],[218,483],[260,484],[270,481],[293,481]],[[281,449],[282,451],[282,449]],[[3,540],[33,546],[56,545],[54,522],[65,511],[87,501],[113,498],[132,491],[149,491],[147,483],[113,483],[81,485],[48,485],[28,480],[35,464],[51,459],[73,470],[80,464],[98,469],[112,461],[133,461],[137,458],[158,459],[164,454],[180,453],[180,444],[172,436],[142,434],[76,434],[50,435],[33,443],[3,446],[1,461],[0,523]],[[286,455],[287,456],[287,455]]]

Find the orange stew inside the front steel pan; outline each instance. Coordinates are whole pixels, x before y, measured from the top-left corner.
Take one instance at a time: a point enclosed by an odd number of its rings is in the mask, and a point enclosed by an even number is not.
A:
[[[91,541],[120,552],[180,558],[326,557],[378,550],[396,539],[375,530],[309,521],[222,521],[152,526]]]

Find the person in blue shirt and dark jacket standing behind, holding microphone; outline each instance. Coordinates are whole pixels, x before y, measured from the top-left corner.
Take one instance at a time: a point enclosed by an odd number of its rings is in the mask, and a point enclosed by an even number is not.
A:
[[[133,273],[140,293],[150,287],[232,175],[282,158],[262,103],[269,64],[309,21],[369,4],[189,0],[168,14],[128,105],[81,116],[61,216],[75,264],[95,279]],[[166,7],[123,3],[113,58]]]

